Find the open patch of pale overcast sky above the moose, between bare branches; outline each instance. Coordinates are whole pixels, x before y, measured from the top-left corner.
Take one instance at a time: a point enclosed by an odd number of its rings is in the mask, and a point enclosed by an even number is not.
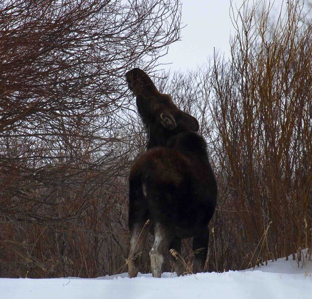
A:
[[[244,0],[233,0],[239,8]],[[281,5],[282,0],[275,1]],[[161,58],[165,70],[196,69],[213,57],[216,51],[230,54],[230,34],[234,28],[230,18],[230,0],[182,0],[181,41],[169,46],[168,54]]]

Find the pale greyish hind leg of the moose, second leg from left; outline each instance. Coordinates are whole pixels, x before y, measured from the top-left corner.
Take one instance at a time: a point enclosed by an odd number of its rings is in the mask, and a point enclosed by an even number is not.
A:
[[[149,252],[151,259],[152,276],[161,277],[161,266],[164,261],[164,254],[168,251],[171,243],[171,232],[168,228],[160,223],[154,226],[155,241]]]

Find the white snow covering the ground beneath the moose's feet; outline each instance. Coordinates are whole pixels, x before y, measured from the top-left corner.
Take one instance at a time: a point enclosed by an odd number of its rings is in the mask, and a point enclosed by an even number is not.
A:
[[[312,299],[312,262],[270,262],[255,270],[154,279],[0,279],[0,299]]]

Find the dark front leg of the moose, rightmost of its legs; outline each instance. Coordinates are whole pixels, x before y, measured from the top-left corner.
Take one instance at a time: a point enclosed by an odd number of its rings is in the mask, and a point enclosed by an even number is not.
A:
[[[204,272],[209,241],[208,225],[202,228],[193,238],[194,273]]]

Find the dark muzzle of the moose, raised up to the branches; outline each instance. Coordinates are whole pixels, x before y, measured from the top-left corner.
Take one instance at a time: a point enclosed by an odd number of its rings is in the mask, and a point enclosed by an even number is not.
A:
[[[140,68],[133,68],[126,72],[126,80],[129,89],[134,95],[142,95],[144,97],[159,94],[158,89],[154,85],[151,78],[145,71]]]

